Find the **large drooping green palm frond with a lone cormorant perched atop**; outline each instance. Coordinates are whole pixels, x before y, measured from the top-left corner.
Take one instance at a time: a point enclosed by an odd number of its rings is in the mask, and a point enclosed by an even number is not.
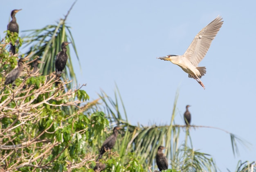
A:
[[[115,93],[115,100],[112,100],[105,92],[99,94],[103,104],[98,106],[99,110],[105,112],[108,120],[112,125],[124,126],[124,131],[117,139],[115,149],[119,152],[121,163],[125,163],[125,155],[132,152],[140,157],[140,163],[145,168],[157,169],[155,163],[155,155],[157,147],[163,145],[167,147],[165,154],[170,164],[169,168],[177,171],[209,171],[216,172],[216,164],[211,155],[193,149],[191,136],[189,135],[190,127],[207,127],[207,126],[190,126],[175,125],[174,118],[176,113],[176,104],[178,99],[178,92],[175,96],[173,104],[173,112],[170,117],[170,125],[151,125],[151,126],[135,126],[130,125],[127,119],[127,114],[124,108],[124,103],[121,99],[120,93],[117,89]],[[119,105],[121,102],[121,106]],[[125,114],[125,119],[121,114]],[[185,141],[180,145],[180,129],[186,127]],[[215,127],[210,127],[218,129]],[[222,130],[222,129],[218,129]],[[222,130],[227,132],[225,130]],[[230,132],[227,132],[231,134]],[[183,140],[183,139],[182,139]],[[243,143],[244,141],[234,134],[231,134],[231,145],[238,152],[237,142]],[[101,143],[99,143],[101,144]],[[190,145],[190,146],[189,146]]]

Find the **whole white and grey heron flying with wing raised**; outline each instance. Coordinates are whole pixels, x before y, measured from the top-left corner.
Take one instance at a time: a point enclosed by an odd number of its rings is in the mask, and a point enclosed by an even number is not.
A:
[[[200,63],[206,55],[211,45],[211,41],[215,38],[222,24],[222,18],[218,16],[195,36],[189,45],[189,48],[182,56],[167,55],[165,57],[159,57],[159,59],[168,60],[173,64],[180,66],[183,71],[189,74],[189,78],[197,80],[205,89],[200,78],[206,74],[206,67],[198,67],[198,63]]]

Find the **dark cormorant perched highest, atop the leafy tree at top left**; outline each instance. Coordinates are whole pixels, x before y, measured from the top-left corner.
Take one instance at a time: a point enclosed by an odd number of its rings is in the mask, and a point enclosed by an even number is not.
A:
[[[19,33],[19,25],[18,23],[16,22],[16,17],[15,17],[15,14],[18,13],[18,11],[20,11],[22,9],[14,9],[13,11],[11,11],[11,21],[8,23],[7,25],[7,30],[11,31],[11,32],[17,32]],[[10,51],[12,54],[16,54],[15,51],[15,45],[11,45],[11,48],[10,48]]]

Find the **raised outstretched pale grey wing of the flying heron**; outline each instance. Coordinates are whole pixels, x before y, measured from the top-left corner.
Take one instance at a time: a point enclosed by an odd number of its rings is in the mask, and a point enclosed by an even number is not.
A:
[[[217,35],[222,24],[222,18],[218,16],[195,36],[184,53],[184,57],[191,61],[194,66],[198,66],[198,63],[204,58],[211,45],[211,41]]]

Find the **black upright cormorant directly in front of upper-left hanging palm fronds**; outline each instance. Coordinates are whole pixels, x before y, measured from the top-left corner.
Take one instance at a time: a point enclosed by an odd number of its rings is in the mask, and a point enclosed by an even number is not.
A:
[[[57,75],[60,75],[65,68],[65,65],[67,63],[67,48],[66,46],[70,44],[71,42],[62,42],[61,49],[55,60],[55,71]]]

